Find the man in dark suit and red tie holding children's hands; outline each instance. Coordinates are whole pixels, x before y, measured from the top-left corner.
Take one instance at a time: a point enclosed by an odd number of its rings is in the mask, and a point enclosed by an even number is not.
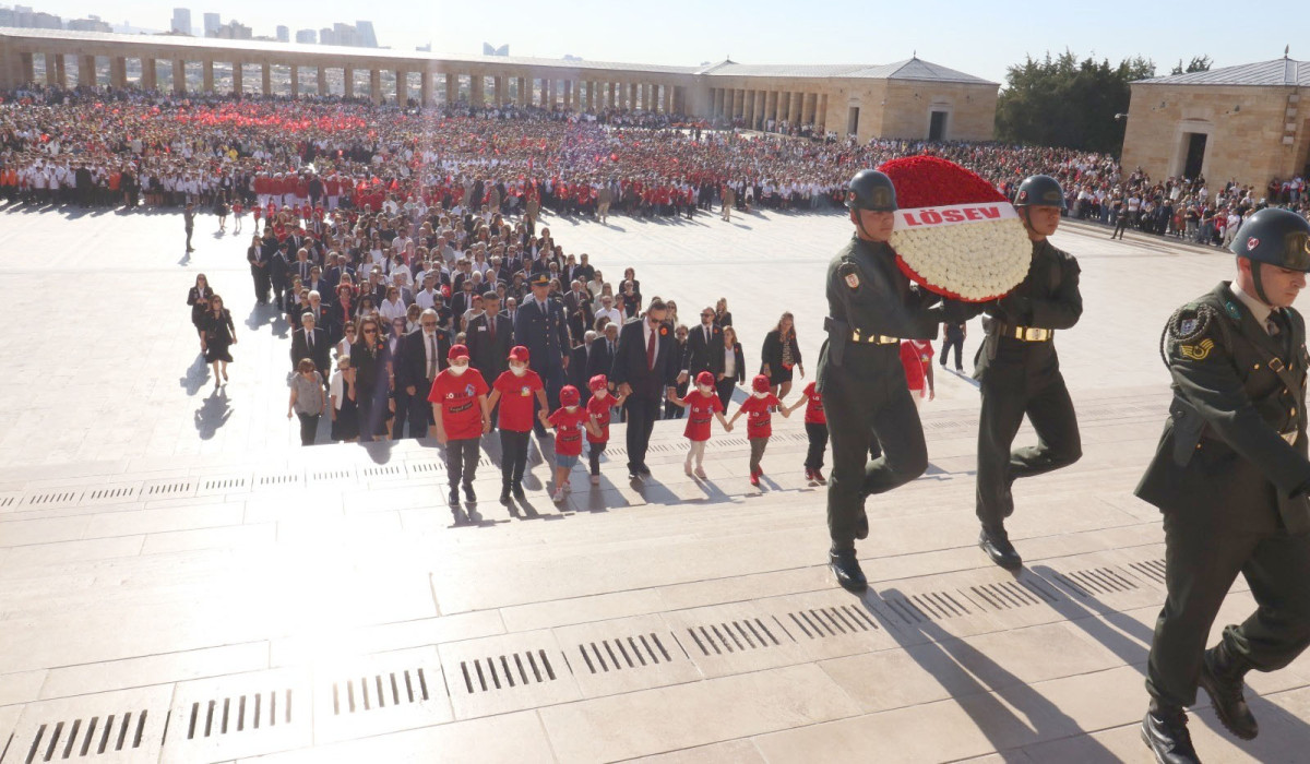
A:
[[[677,384],[677,354],[673,351],[673,333],[664,324],[667,316],[664,300],[655,297],[645,317],[624,324],[609,371],[609,381],[618,385],[620,394],[627,396],[624,404],[627,476],[633,480],[651,473],[646,467],[651,430],[659,418],[660,400],[673,394]]]

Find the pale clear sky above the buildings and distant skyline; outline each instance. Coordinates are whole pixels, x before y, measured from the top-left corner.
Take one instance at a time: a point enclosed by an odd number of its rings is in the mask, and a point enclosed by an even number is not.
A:
[[[14,0],[4,0],[12,4]],[[37,10],[80,18],[168,29],[174,3],[134,0],[26,0]],[[267,3],[204,0],[185,5],[193,25],[219,12],[274,34],[274,28],[320,29],[335,21],[373,22],[383,46],[434,52],[481,54],[482,42],[510,43],[514,55],[697,66],[727,55],[740,63],[883,64],[918,56],[1005,81],[1006,67],[1024,55],[1058,54],[1111,63],[1141,54],[1159,73],[1183,59],[1208,54],[1216,67],[1269,60],[1292,45],[1292,58],[1310,60],[1310,5],[1305,0],[1258,4],[1187,0],[1038,3],[886,3],[880,0],[432,0],[428,3]],[[1039,9],[1040,10],[1036,10]],[[1251,8],[1258,14],[1247,16]]]

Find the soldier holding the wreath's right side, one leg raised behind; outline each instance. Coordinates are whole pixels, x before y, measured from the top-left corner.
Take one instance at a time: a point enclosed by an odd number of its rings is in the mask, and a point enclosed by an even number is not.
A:
[[[1068,467],[1082,456],[1078,418],[1053,341],[1057,329],[1072,328],[1082,316],[1078,261],[1047,239],[1060,227],[1064,190],[1049,176],[1032,176],[1019,183],[1014,206],[1032,241],[1032,265],[1018,287],[984,308],[986,338],[973,362],[973,376],[982,391],[979,545],[1009,570],[1023,565],[1005,531],[1005,519],[1014,512],[1010,486],[1020,477]],[[1038,444],[1010,451],[1024,415],[1038,432]]]

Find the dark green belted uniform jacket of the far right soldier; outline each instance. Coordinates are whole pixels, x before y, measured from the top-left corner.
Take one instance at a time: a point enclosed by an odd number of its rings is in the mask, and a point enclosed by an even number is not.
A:
[[[1170,326],[1174,401],[1138,497],[1218,532],[1273,533],[1280,516],[1288,532],[1310,532],[1310,355],[1305,320],[1282,313],[1285,332],[1271,337],[1227,282],[1182,309]]]

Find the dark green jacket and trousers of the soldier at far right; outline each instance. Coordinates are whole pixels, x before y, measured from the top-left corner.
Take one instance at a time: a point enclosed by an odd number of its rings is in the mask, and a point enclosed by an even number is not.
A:
[[[1224,632],[1247,667],[1273,671],[1310,645],[1310,484],[1305,321],[1272,313],[1271,335],[1227,282],[1171,320],[1174,401],[1137,495],[1163,512],[1169,599],[1146,688],[1196,700],[1205,640],[1238,573],[1259,608]]]

